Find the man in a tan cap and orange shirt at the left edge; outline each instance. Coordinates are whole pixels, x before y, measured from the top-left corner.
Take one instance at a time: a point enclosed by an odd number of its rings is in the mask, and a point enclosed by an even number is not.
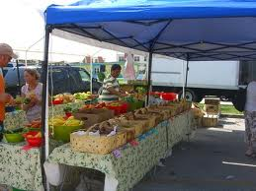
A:
[[[18,56],[13,52],[10,45],[6,43],[0,43],[0,67],[3,68],[11,61],[12,58],[17,58]],[[5,119],[5,104],[14,104],[14,99],[12,96],[5,93],[5,81],[0,70],[0,141],[3,139],[4,131],[4,119]]]

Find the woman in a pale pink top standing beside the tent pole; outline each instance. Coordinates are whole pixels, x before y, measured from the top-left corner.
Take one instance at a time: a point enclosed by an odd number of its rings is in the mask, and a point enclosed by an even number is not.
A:
[[[26,69],[24,72],[26,85],[22,87],[22,97],[25,98],[23,109],[26,111],[29,122],[41,119],[43,84],[39,82],[40,75],[35,69]]]

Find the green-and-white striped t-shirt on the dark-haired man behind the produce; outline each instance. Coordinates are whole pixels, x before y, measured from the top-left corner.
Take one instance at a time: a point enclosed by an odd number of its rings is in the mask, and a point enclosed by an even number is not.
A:
[[[119,92],[120,90],[120,85],[119,82],[116,78],[112,77],[111,75],[104,79],[103,82],[103,87],[102,87],[102,93],[99,96],[100,100],[102,101],[113,101],[113,100],[119,100],[119,96],[112,95],[108,89],[109,88],[114,88],[116,91]]]

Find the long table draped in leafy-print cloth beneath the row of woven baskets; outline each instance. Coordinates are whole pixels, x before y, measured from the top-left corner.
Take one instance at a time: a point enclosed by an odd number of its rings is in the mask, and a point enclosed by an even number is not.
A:
[[[92,168],[105,173],[105,191],[132,188],[172,146],[191,133],[192,112],[160,123],[132,143],[108,155],[73,152],[69,144],[53,150],[48,162]]]

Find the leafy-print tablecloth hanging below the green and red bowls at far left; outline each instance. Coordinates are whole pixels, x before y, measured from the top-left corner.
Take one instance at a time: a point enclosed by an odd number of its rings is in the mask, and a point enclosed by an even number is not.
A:
[[[39,149],[22,150],[22,145],[0,144],[0,184],[23,190],[43,190]]]

